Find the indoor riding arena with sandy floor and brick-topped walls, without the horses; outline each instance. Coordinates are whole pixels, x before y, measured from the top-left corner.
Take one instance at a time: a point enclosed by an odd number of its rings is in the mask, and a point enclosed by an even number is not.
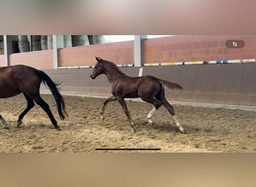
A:
[[[37,49],[38,41],[50,42],[51,37],[0,36],[1,67],[25,64],[43,70],[61,83],[67,111],[61,120],[52,93],[41,84],[40,95],[61,130],[52,126],[39,105],[17,127],[27,105],[24,95],[1,98],[0,114],[9,126],[0,126],[1,153],[256,152],[255,35],[136,35],[119,42],[97,36],[100,41],[91,35],[77,36],[84,41],[79,45],[71,36],[51,36],[54,45]],[[22,42],[30,43],[28,51],[21,50]],[[245,45],[227,46],[228,42]],[[165,96],[186,133],[180,133],[164,106],[149,123],[153,105],[140,98],[126,99],[135,132],[117,101],[106,105],[102,120],[103,102],[112,93],[105,75],[90,77],[95,57],[114,62],[127,76],[151,75],[181,85],[181,91],[165,88]]]

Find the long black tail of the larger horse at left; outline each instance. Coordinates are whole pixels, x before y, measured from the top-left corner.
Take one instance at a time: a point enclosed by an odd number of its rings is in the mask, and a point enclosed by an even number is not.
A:
[[[43,71],[37,70],[37,74],[42,80],[43,84],[46,85],[49,90],[52,92],[52,95],[55,98],[55,101],[58,105],[58,114],[61,117],[61,120],[65,119],[65,114],[67,114],[65,110],[65,102],[63,97],[61,96],[61,93],[58,91],[58,83],[55,83],[52,81],[52,79],[49,78],[49,76],[44,73]]]

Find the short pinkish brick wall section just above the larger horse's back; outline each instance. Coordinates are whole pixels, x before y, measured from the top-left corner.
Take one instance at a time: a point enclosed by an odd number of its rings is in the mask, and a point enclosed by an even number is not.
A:
[[[22,52],[10,55],[10,66],[25,64],[37,69],[53,69],[52,50]]]

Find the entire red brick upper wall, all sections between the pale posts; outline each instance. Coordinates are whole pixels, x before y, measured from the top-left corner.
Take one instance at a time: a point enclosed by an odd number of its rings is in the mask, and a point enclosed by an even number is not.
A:
[[[244,40],[246,46],[243,49],[227,49],[226,40]],[[113,61],[115,64],[133,64],[133,50],[133,41],[59,49],[59,66],[94,65],[95,56]],[[39,69],[52,69],[52,55],[52,50],[12,54],[10,65],[27,64]],[[144,40],[144,63],[251,58],[256,58],[256,35],[190,35]],[[4,66],[3,55],[0,55],[1,64]]]

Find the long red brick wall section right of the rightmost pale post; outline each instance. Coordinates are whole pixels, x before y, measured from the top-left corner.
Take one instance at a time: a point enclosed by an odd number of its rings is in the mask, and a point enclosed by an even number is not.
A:
[[[246,45],[228,49],[226,40],[244,40]],[[189,35],[144,40],[144,63],[252,58],[256,58],[256,36]]]

